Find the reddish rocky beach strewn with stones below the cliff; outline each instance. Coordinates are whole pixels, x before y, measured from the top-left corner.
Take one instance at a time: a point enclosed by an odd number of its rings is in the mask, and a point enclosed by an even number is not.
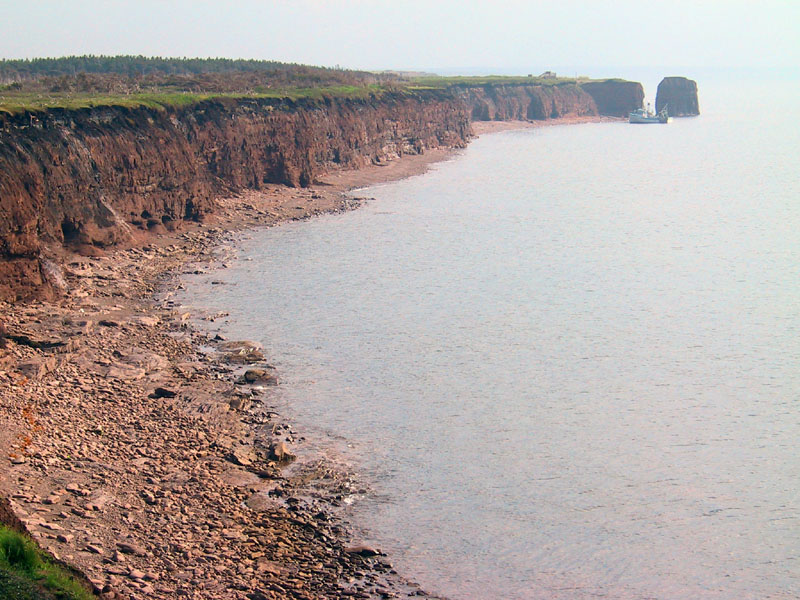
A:
[[[473,128],[606,120],[616,119]],[[281,471],[299,434],[264,405],[260,387],[280,375],[269,357],[191,327],[193,315],[168,298],[190,265],[218,264],[232,234],[355,209],[361,199],[347,192],[422,174],[456,152],[218,199],[201,225],[71,257],[70,292],[57,302],[0,304],[14,340],[0,349],[9,461],[0,495],[34,537],[108,598],[434,598],[374,549],[347,546],[334,509],[346,474],[321,463],[316,473]],[[303,492],[309,477],[325,479],[317,497]]]

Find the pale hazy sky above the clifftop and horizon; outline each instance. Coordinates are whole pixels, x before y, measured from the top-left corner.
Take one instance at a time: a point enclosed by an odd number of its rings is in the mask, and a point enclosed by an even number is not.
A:
[[[0,57],[226,56],[361,69],[800,66],[800,0],[0,0]]]

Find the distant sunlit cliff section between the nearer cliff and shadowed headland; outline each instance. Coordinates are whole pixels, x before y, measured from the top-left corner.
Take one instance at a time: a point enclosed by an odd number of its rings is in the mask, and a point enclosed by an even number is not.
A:
[[[462,90],[473,121],[556,119],[597,115],[594,99],[577,85],[487,85]]]

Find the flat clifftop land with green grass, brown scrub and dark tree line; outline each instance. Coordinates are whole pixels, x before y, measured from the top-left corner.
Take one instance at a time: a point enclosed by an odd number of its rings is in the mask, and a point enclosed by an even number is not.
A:
[[[274,61],[81,56],[0,60],[0,112],[98,106],[165,109],[213,98],[368,99],[487,86],[559,86],[585,78],[404,77]]]

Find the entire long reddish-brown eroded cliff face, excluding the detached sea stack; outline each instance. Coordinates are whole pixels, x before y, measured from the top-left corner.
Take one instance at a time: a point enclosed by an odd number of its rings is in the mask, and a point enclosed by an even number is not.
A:
[[[0,298],[52,291],[64,246],[103,247],[201,219],[223,194],[462,147],[471,120],[623,115],[641,105],[640,90],[618,81],[456,86],[0,112]]]

